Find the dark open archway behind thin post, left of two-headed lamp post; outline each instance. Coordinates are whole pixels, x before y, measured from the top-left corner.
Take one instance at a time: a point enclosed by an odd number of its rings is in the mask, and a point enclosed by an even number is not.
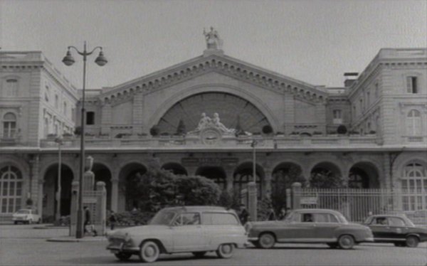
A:
[[[52,164],[46,169],[43,177],[43,221],[53,221],[56,216],[58,200],[58,166]],[[71,209],[71,183],[73,183],[73,170],[66,164],[60,165],[60,216],[69,216]]]

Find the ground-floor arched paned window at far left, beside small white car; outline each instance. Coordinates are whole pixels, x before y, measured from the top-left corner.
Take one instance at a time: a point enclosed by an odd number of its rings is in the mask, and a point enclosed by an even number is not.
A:
[[[0,169],[0,213],[14,213],[21,208],[22,174],[14,166]]]

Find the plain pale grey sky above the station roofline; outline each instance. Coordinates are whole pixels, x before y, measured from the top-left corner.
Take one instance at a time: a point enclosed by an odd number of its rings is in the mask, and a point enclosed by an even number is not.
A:
[[[427,47],[426,0],[0,0],[3,51],[41,50],[76,87],[112,87],[203,54],[213,26],[238,60],[312,85],[342,87],[381,48]]]

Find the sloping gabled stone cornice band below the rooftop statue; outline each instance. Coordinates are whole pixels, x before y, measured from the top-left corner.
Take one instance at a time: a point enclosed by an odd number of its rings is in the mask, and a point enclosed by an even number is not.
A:
[[[327,98],[326,92],[318,90],[313,85],[258,68],[222,53],[201,55],[142,78],[130,80],[115,87],[104,88],[98,97],[102,102],[122,102],[123,99],[132,98],[135,94],[152,93],[213,71],[252,83],[266,90],[275,90],[280,93],[290,92],[295,97],[309,102],[323,102]]]

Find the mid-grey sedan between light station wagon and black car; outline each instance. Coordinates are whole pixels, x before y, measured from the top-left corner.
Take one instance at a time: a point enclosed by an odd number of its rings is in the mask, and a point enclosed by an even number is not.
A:
[[[373,242],[371,230],[349,223],[338,211],[297,209],[283,220],[252,222],[248,240],[258,248],[273,248],[275,243],[326,243],[330,248],[351,249],[362,242]]]

